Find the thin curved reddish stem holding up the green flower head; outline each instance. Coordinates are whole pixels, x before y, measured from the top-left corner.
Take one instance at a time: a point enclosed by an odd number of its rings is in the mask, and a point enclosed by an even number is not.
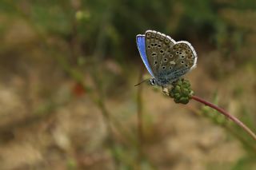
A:
[[[199,101],[200,103],[207,105],[209,107],[211,107],[212,109],[217,110],[219,113],[222,113],[224,116],[226,116],[227,118],[229,118],[231,121],[234,121],[235,124],[239,125],[241,128],[243,128],[246,132],[248,132],[250,134],[250,136],[252,136],[254,138],[254,140],[256,140],[256,135],[254,132],[252,132],[250,130],[250,128],[248,128],[246,125],[244,125],[242,123],[242,121],[239,121],[238,118],[230,115],[230,113],[227,113],[224,109],[219,108],[217,105],[214,105],[208,101],[203,100],[200,97],[196,97],[196,96],[192,96],[192,99],[194,99],[195,101]]]

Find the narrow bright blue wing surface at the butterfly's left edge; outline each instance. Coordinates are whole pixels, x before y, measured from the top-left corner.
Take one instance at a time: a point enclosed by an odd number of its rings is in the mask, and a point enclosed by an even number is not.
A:
[[[140,56],[142,57],[142,61],[144,62],[146,69],[151,74],[151,76],[154,77],[154,73],[152,72],[152,69],[150,69],[152,67],[150,66],[149,61],[146,57],[145,35],[140,35],[140,34],[137,35],[136,42],[137,42],[137,46],[138,46],[138,51],[140,53]]]

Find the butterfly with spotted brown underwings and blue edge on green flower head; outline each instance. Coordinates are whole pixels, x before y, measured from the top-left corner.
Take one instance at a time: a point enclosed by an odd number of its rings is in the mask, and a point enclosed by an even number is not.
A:
[[[197,53],[189,42],[175,42],[154,30],[138,34],[136,42],[142,61],[152,76],[150,85],[164,88],[196,66]]]

